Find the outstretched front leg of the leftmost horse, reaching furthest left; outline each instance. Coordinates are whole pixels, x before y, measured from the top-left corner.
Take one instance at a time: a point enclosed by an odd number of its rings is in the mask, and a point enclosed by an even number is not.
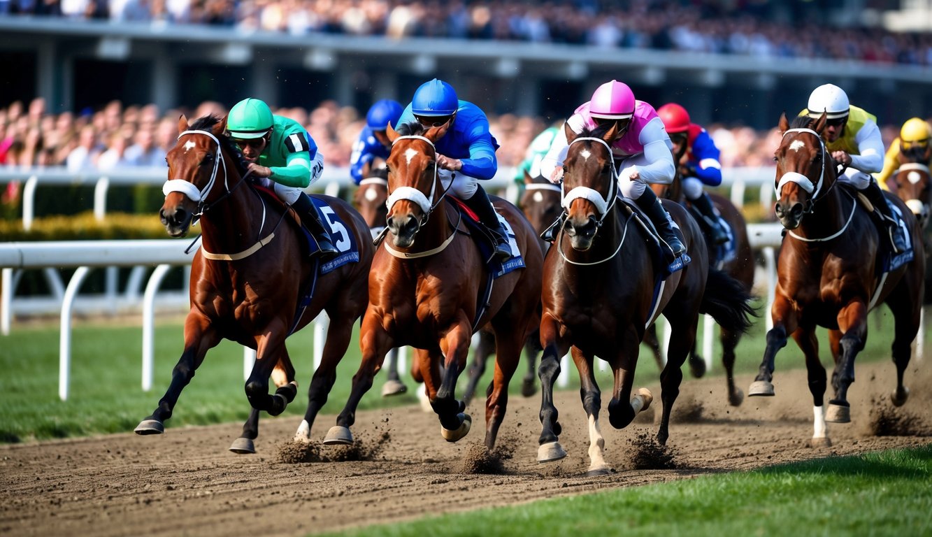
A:
[[[194,373],[203,363],[207,351],[220,342],[220,336],[213,328],[211,320],[192,310],[185,319],[185,351],[178,359],[178,364],[171,370],[171,383],[168,390],[158,400],[158,406],[145,420],[139,422],[134,430],[136,434],[162,434],[164,422],[171,418],[171,412],[178,403],[178,397]]]

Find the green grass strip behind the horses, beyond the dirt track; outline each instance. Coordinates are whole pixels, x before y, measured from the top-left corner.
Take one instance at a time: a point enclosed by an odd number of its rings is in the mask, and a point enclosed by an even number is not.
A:
[[[878,319],[880,325],[878,325]],[[880,310],[880,316],[870,319],[871,336],[868,346],[857,358],[858,363],[888,360],[892,332],[890,315]],[[829,365],[828,345],[821,332],[823,363]],[[358,336],[358,335],[357,335]],[[926,334],[926,339],[932,337]],[[21,442],[36,439],[62,438],[88,434],[131,431],[158,404],[171,379],[171,368],[182,351],[182,326],[177,322],[158,324],[156,328],[156,364],[151,392],[141,389],[142,328],[138,325],[80,323],[72,334],[72,381],[69,398],[58,397],[59,328],[57,324],[35,327],[14,325],[11,335],[0,337],[4,351],[0,353],[0,442]],[[307,404],[310,379],[313,333],[308,327],[288,339],[288,348],[295,362],[299,393],[284,416],[300,416]],[[701,348],[701,347],[700,347]],[[764,348],[764,323],[760,319],[744,337],[737,349],[736,371],[752,373],[761,362]],[[710,375],[721,375],[720,347],[715,342],[715,358]],[[347,355],[337,370],[334,390],[330,393],[325,414],[336,414],[349,396],[349,379],[359,366],[359,340],[354,337]],[[802,352],[794,342],[776,357],[777,375],[782,370],[803,366]],[[520,365],[511,384],[513,392],[520,389],[520,377],[525,365]],[[385,399],[379,395],[384,374],[364,397],[361,409],[408,405],[417,402],[412,393],[416,385],[403,372],[409,392]],[[482,393],[491,378],[491,367],[480,382]],[[465,376],[460,378],[464,381]],[[610,371],[599,372],[600,385],[610,385]],[[658,379],[657,366],[650,351],[641,351],[636,382],[652,383]],[[689,376],[685,381],[689,381]],[[575,368],[570,365],[568,389],[579,386]],[[243,393],[242,350],[229,341],[208,352],[204,364],[182,393],[166,427],[191,424],[211,424],[242,421],[249,405]]]

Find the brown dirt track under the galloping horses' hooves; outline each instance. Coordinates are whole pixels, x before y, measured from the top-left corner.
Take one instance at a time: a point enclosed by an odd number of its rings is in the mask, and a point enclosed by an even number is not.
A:
[[[651,366],[651,365],[645,365]],[[811,398],[802,371],[777,371],[776,397],[724,401],[723,379],[685,379],[674,409],[668,449],[652,438],[659,400],[632,425],[613,430],[603,412],[606,459],[617,471],[589,478],[585,417],[577,392],[557,396],[569,456],[536,462],[539,396],[511,401],[500,447],[511,453],[504,473],[464,473],[464,461],[483,438],[483,411],[475,403],[473,431],[447,444],[432,414],[417,406],[361,412],[353,432],[364,461],[294,460],[289,417],[264,420],[259,454],[226,447],[240,424],[169,429],[161,436],[117,434],[0,447],[0,534],[7,535],[303,535],[427,514],[633,487],[694,475],[747,470],[784,461],[846,455],[932,442],[932,375],[913,364],[911,399],[896,412],[886,394],[895,370],[884,362],[860,365],[849,392],[852,423],[829,424],[833,446],[814,449]],[[747,390],[750,376],[738,386]],[[659,396],[659,384],[651,391]],[[605,387],[603,387],[605,390]],[[607,393],[603,392],[603,408]],[[652,410],[657,408],[655,415]],[[334,423],[322,416],[312,435]],[[878,432],[898,435],[877,435]],[[321,447],[322,453],[333,453]],[[637,469],[672,457],[672,469]],[[661,465],[662,466],[662,465]]]

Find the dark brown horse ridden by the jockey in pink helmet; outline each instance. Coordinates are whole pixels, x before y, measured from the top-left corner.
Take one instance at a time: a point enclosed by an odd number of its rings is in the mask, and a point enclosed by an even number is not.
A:
[[[677,222],[692,261],[668,268],[648,232],[649,220],[619,202],[619,177],[610,144],[623,132],[612,124],[583,130],[565,127],[569,148],[564,160],[563,203],[566,219],[547,252],[541,294],[541,437],[538,461],[562,459],[561,426],[553,386],[559,358],[571,349],[580,374],[583,408],[589,417],[589,475],[604,475],[605,439],[598,424],[601,392],[596,384],[596,356],[611,366],[614,386],[609,421],[627,426],[651,405],[646,388],[632,397],[637,355],[645,330],[663,313],[673,331],[661,372],[663,416],[657,440],[665,444],[669,420],[682,380],[680,366],[692,349],[701,312],[735,332],[747,330],[752,312],[741,283],[709,268],[706,242],[698,224],[678,203],[664,200]],[[671,272],[672,270],[672,272]],[[665,274],[667,274],[664,278]]]

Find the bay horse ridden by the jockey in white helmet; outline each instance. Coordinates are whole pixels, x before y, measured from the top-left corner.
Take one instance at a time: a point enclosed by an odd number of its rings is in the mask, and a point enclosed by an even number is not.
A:
[[[786,114],[780,117],[783,139],[774,154],[775,213],[787,234],[777,261],[771,309],[774,327],[767,332],[761,369],[748,391],[749,395],[774,395],[774,357],[792,336],[805,355],[809,372],[815,416],[813,447],[831,445],[826,421],[851,420],[847,393],[855,381],[855,358],[867,341],[868,311],[881,303],[890,308],[895,323],[892,351],[897,389],[891,399],[896,406],[906,402],[909,391],[903,386],[903,373],[919,330],[925,274],[922,252],[891,256],[870,213],[862,210],[866,200],[858,200],[857,191],[837,181],[836,163],[824,140],[825,125],[825,114],[818,119],[797,117],[791,126]],[[887,199],[894,212],[901,214],[912,244],[919,248],[922,235],[915,217],[901,200]],[[834,397],[824,412],[827,380],[819,362],[816,326],[829,329],[835,362]]]

